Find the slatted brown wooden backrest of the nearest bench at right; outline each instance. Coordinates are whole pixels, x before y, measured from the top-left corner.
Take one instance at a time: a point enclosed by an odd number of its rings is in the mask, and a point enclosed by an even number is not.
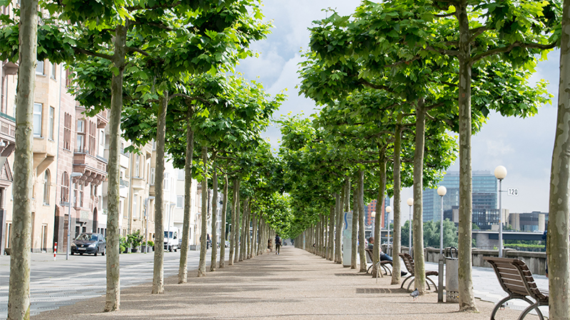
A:
[[[537,300],[548,300],[548,296],[543,294],[537,287],[532,272],[522,260],[483,257],[493,267],[494,273],[504,291],[522,296],[530,296]]]

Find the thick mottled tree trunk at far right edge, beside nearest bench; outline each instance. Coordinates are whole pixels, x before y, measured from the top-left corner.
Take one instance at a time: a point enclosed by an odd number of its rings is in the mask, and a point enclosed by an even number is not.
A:
[[[570,0],[564,0],[562,30],[570,24]],[[549,319],[570,319],[570,35],[563,32],[560,50],[558,116],[550,174],[546,257],[549,269]]]

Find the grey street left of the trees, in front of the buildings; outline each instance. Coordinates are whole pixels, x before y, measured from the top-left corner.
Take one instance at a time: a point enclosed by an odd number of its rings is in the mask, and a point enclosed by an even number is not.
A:
[[[207,265],[210,253],[208,250]],[[30,295],[31,314],[75,304],[84,299],[105,294],[105,259],[93,255],[57,255],[35,253],[31,255]],[[120,255],[120,286],[131,287],[152,282],[153,252]],[[198,267],[199,251],[188,252],[188,270]],[[165,252],[164,276],[178,273],[179,252]],[[8,312],[10,257],[0,256],[0,319]],[[192,275],[189,274],[191,277]]]

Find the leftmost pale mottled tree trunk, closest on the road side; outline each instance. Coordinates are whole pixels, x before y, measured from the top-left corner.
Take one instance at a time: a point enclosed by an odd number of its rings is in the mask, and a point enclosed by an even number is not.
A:
[[[8,319],[30,319],[31,211],[33,190],[33,92],[36,87],[38,0],[21,1],[20,68],[16,97],[14,209]],[[69,241],[69,239],[68,239]]]

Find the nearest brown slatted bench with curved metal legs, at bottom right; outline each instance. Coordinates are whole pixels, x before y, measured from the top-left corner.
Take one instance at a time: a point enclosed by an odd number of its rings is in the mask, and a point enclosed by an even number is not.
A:
[[[530,304],[527,309],[522,311],[519,320],[524,319],[527,314],[535,309],[539,318],[544,320],[544,316],[539,309],[539,306],[548,306],[548,291],[539,289],[534,282],[532,273],[529,267],[522,260],[499,258],[499,257],[483,257],[483,260],[489,262],[493,267],[494,273],[497,274],[497,279],[503,288],[504,292],[509,294],[509,297],[497,302],[494,306],[491,320],[494,320],[494,315],[505,302],[510,299],[522,299]],[[536,300],[532,302],[527,297]]]

